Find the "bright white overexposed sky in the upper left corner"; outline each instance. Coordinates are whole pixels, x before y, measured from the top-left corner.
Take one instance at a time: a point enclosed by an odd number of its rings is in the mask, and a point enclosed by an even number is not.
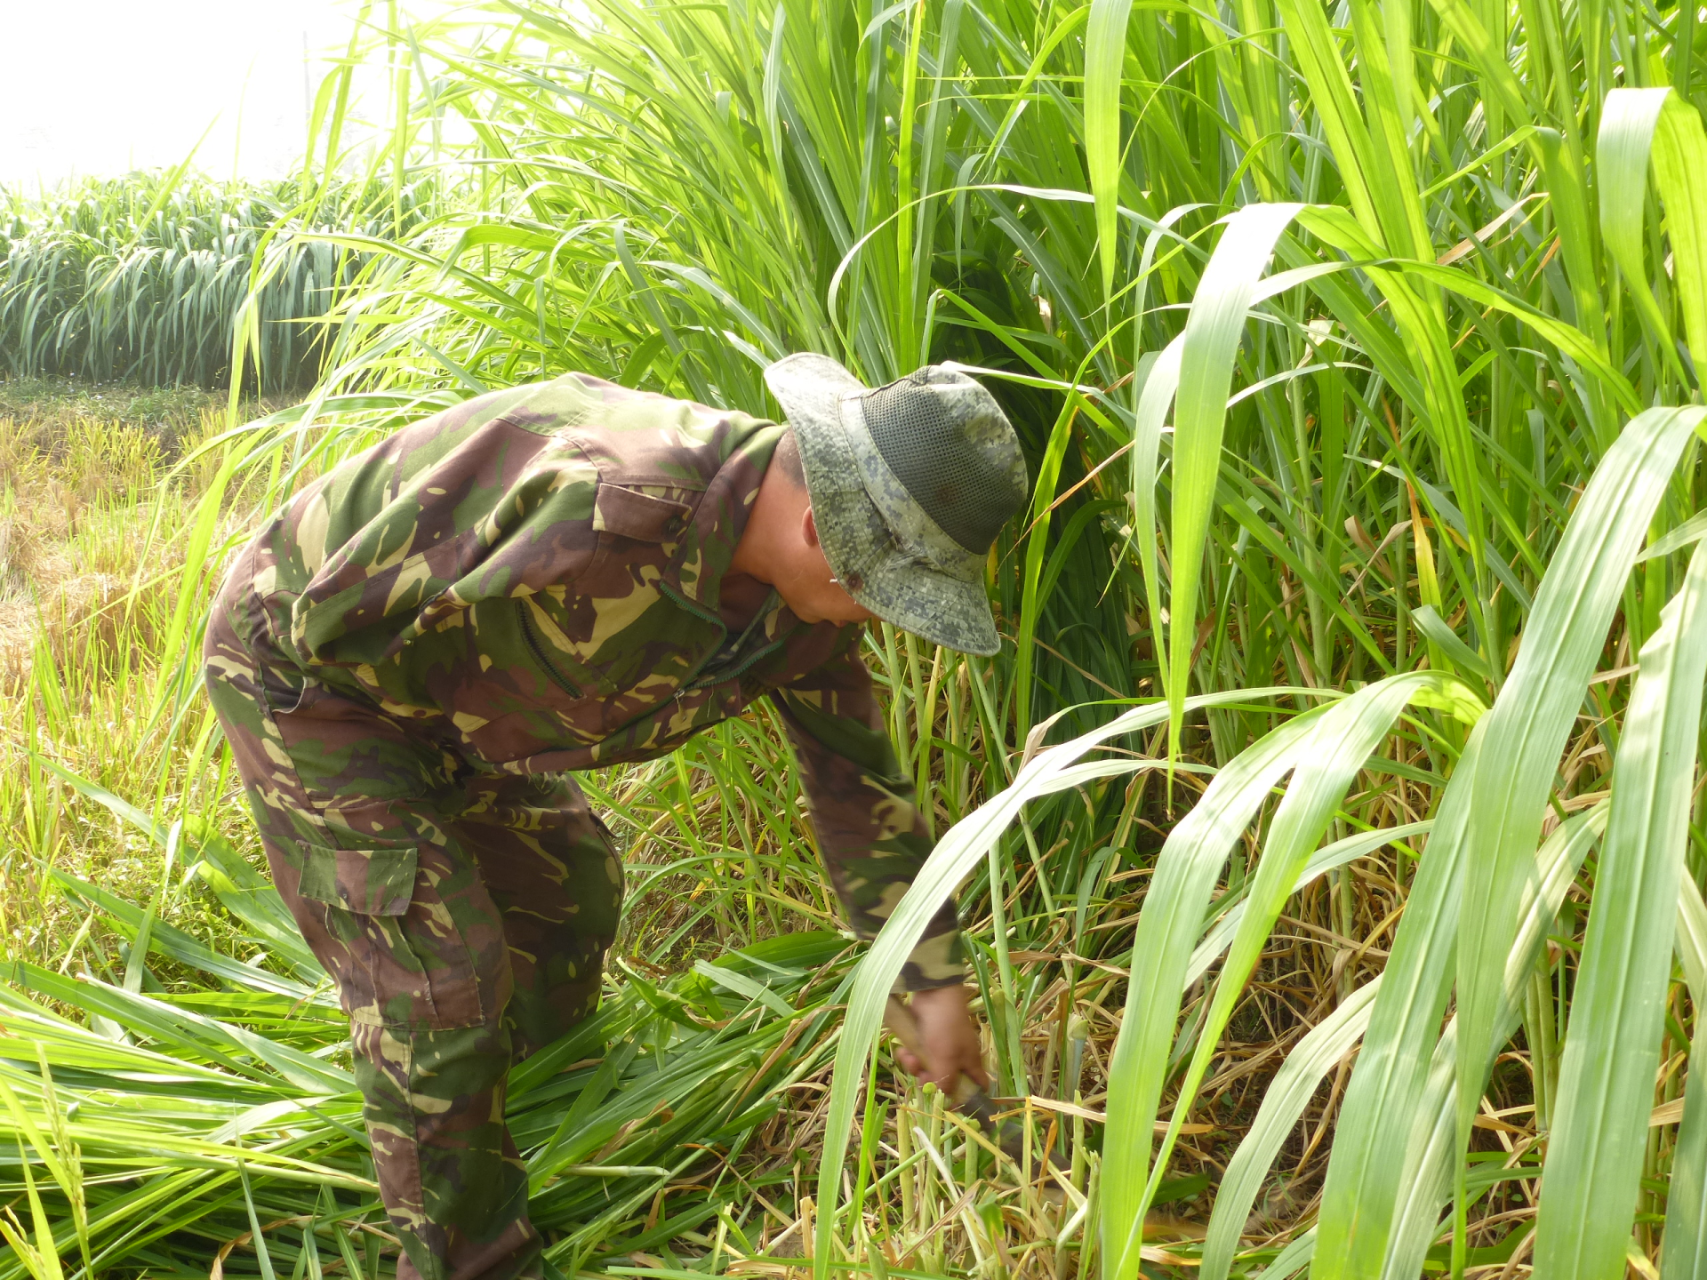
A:
[[[196,167],[282,174],[302,155],[304,46],[343,46],[352,15],[340,0],[0,0],[0,183],[172,166],[208,125]]]

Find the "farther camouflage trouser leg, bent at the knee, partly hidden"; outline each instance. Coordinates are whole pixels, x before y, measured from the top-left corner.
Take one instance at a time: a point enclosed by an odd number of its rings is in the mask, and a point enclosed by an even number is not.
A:
[[[481,778],[451,829],[475,850],[504,916],[507,1021],[521,1060],[597,1009],[621,916],[621,862],[568,775]]]

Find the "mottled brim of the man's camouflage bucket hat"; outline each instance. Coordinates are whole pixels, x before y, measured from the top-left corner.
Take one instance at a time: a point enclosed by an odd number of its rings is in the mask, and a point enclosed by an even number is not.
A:
[[[854,601],[903,631],[990,657],[1000,652],[982,580],[939,572],[901,551],[871,500],[843,427],[842,399],[865,386],[828,355],[804,352],[765,370],[794,428],[830,572]]]

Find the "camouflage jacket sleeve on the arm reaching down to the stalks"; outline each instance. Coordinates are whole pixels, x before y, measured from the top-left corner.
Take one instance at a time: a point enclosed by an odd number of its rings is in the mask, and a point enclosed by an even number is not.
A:
[[[930,836],[884,730],[859,633],[835,657],[772,691],[801,765],[806,800],[859,937],[876,937],[925,857]],[[964,978],[954,903],[947,901],[901,969],[898,990],[922,992]]]

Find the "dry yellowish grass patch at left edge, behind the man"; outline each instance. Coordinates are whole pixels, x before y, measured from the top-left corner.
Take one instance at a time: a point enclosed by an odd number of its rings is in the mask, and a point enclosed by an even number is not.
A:
[[[188,753],[183,734],[145,720],[183,529],[212,473],[195,464],[174,476],[172,466],[222,427],[207,393],[0,382],[0,928],[9,957],[99,969],[123,949],[51,887],[51,870],[131,899],[159,882],[147,841],[44,771],[44,761],[142,806],[162,778],[172,790],[195,785],[172,761],[160,768],[162,753]],[[172,915],[224,932],[198,894],[179,896]]]

